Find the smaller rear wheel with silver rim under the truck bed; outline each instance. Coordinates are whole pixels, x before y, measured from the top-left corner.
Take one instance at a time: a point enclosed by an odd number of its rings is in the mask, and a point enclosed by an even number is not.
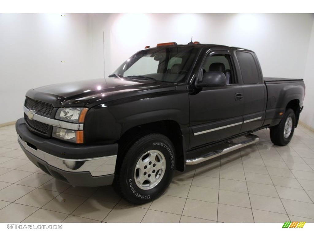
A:
[[[292,109],[288,109],[280,123],[270,127],[270,140],[275,145],[285,146],[291,141],[294,129],[295,113]]]

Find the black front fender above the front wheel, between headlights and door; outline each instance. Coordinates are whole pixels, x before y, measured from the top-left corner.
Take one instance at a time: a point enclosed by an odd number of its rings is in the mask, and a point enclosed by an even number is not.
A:
[[[112,101],[91,108],[85,118],[85,142],[114,142],[133,127],[163,120],[176,121],[181,129],[188,127],[186,90],[149,94],[124,102]]]

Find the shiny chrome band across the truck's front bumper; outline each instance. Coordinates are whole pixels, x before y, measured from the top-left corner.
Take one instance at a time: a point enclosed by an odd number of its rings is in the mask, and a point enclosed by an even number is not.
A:
[[[27,142],[23,141],[18,135],[18,141],[21,146],[32,155],[45,161],[48,165],[54,166],[63,171],[70,172],[90,172],[91,176],[98,177],[114,174],[116,167],[116,155],[102,156],[89,159],[66,159],[48,154],[39,149],[30,147]]]

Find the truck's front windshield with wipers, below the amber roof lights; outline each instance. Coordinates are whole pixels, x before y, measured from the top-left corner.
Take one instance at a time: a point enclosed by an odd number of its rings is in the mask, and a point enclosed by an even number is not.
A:
[[[183,82],[189,74],[199,48],[190,46],[152,48],[127,59],[109,77],[137,80]]]

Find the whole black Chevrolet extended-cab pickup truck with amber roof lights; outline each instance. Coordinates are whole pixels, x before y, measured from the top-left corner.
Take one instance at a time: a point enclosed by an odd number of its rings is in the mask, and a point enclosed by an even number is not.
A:
[[[75,186],[113,184],[134,204],[184,171],[259,140],[287,145],[303,108],[302,79],[263,78],[254,52],[191,42],[135,53],[109,78],[26,93],[16,122],[28,158]]]

